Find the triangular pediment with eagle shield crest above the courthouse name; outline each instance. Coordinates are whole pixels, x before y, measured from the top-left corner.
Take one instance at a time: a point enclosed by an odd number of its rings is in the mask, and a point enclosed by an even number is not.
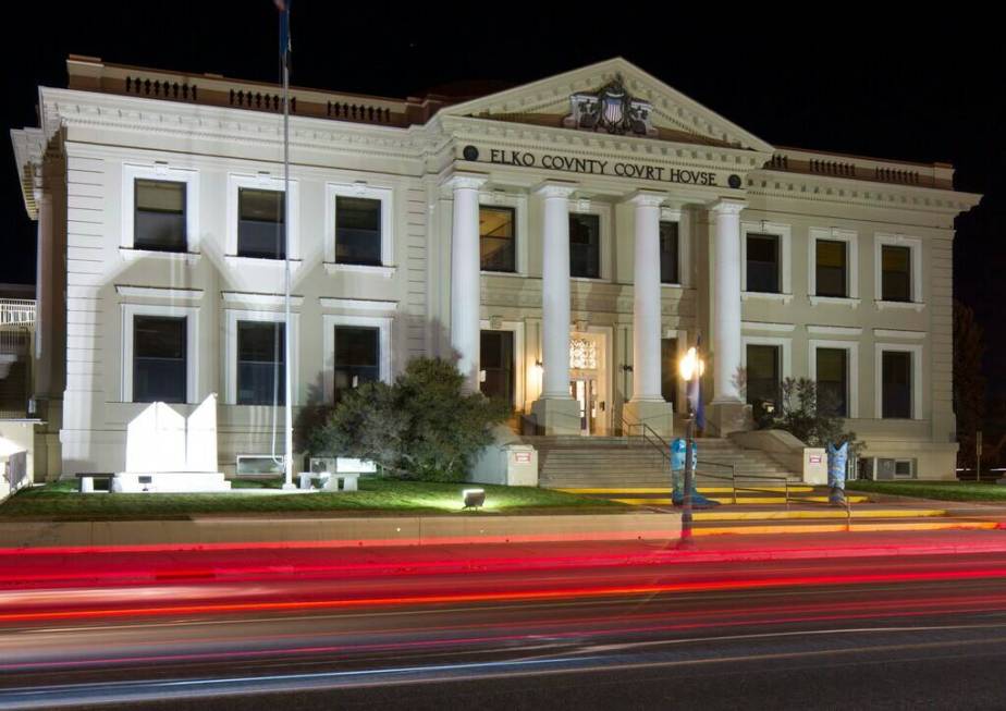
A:
[[[446,107],[440,113],[773,151],[758,136],[622,58]]]

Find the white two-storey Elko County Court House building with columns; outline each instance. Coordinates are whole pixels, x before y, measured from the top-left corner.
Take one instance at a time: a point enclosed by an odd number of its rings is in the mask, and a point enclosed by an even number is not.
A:
[[[294,88],[286,214],[274,85],[68,69],[11,132],[39,479],[121,470],[144,403],[210,393],[221,470],[269,452],[286,336],[295,406],[456,353],[539,433],[667,434],[698,334],[709,433],[807,376],[869,456],[954,476],[954,218],[979,196],[950,166],[772,146],[613,59],[464,100]]]

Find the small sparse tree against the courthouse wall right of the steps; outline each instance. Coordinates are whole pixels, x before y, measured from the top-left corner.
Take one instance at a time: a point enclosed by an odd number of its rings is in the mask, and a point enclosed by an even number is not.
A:
[[[837,403],[831,393],[819,392],[809,378],[786,378],[781,387],[780,412],[762,410],[756,420],[759,429],[785,430],[809,446],[835,446],[843,442],[858,451],[856,432],[845,430],[845,419],[836,415]]]

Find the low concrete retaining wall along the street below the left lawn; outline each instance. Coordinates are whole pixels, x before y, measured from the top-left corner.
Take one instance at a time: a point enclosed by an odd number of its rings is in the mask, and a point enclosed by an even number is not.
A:
[[[439,545],[571,540],[670,540],[677,513],[540,516],[224,518],[0,522],[0,548],[175,547],[318,543],[319,547]]]

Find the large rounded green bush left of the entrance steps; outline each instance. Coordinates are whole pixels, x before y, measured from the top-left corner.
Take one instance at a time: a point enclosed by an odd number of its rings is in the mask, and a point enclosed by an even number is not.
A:
[[[510,405],[465,393],[464,376],[441,358],[416,358],[394,384],[366,383],[307,436],[318,456],[370,459],[420,481],[464,481],[471,459],[492,442]]]

